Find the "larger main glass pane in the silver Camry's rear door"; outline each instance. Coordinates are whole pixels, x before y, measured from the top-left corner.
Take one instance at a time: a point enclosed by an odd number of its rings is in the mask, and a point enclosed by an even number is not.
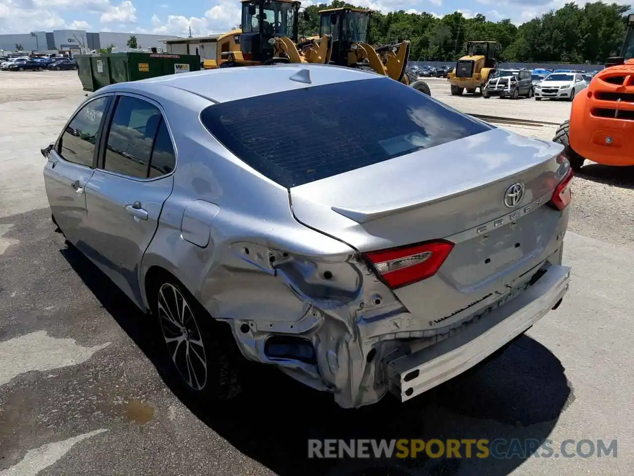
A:
[[[120,96],[108,131],[103,169],[147,178],[152,144],[161,120],[155,105]]]

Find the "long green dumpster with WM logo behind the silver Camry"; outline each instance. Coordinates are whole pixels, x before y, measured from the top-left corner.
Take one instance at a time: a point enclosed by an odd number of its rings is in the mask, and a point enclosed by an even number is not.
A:
[[[77,55],[75,58],[82,88],[93,92],[108,84],[200,71],[198,55],[111,53],[99,56]]]

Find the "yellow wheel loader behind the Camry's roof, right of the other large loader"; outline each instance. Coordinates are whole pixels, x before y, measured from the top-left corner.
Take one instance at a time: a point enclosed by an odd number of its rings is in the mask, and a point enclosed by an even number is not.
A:
[[[407,70],[410,42],[371,45],[371,10],[330,8],[320,11],[320,35],[332,36],[330,64],[365,69],[409,84],[430,95],[429,86]]]

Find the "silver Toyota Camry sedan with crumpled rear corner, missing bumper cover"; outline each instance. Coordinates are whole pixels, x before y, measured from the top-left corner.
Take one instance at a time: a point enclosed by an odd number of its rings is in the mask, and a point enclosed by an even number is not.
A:
[[[42,155],[54,222],[153,315],[190,397],[234,395],[241,353],[359,407],[443,383],[559,306],[562,150],[297,64],[105,86]]]

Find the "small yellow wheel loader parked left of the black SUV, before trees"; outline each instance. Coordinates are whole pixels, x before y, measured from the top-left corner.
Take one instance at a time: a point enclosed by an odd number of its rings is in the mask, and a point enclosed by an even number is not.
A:
[[[467,93],[482,94],[482,89],[498,66],[496,53],[500,44],[496,41],[468,41],[467,56],[456,62],[453,72],[447,75],[451,87],[451,95],[460,96]]]

